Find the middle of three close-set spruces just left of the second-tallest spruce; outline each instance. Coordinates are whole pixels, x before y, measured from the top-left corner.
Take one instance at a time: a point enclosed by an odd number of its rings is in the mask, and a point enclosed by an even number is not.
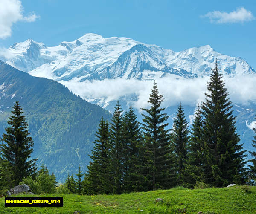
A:
[[[113,194],[121,194],[123,191],[124,179],[124,141],[122,136],[122,109],[119,101],[116,103],[115,111],[111,119],[110,129],[110,145],[111,145],[111,162],[109,165],[109,172]]]

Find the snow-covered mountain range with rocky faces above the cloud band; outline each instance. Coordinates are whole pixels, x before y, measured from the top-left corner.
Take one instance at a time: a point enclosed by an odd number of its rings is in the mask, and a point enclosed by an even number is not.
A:
[[[209,45],[174,52],[130,38],[103,38],[91,33],[54,47],[29,39],[14,43],[8,55],[0,56],[17,69],[57,81],[143,80],[166,74],[194,78],[209,75],[215,58],[222,72],[230,76],[255,73],[242,58],[220,54]]]

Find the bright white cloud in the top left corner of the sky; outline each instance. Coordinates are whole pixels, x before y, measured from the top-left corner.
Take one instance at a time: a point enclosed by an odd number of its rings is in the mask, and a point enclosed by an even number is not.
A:
[[[12,25],[17,21],[34,22],[37,18],[35,12],[27,16],[23,14],[20,0],[0,0],[0,38],[11,36]]]

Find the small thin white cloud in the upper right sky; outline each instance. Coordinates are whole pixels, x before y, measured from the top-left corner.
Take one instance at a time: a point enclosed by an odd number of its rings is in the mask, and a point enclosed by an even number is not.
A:
[[[235,11],[230,13],[227,12],[220,12],[220,11],[212,11],[208,12],[202,17],[209,17],[211,22],[216,23],[238,23],[238,22],[245,22],[254,20],[252,12],[246,10],[244,7],[240,7]]]

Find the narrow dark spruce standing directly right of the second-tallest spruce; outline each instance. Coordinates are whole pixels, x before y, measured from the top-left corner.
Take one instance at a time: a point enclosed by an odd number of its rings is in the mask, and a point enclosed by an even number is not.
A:
[[[189,130],[183,107],[178,106],[172,129],[172,146],[177,160],[178,184],[183,184],[184,168],[188,159]]]

